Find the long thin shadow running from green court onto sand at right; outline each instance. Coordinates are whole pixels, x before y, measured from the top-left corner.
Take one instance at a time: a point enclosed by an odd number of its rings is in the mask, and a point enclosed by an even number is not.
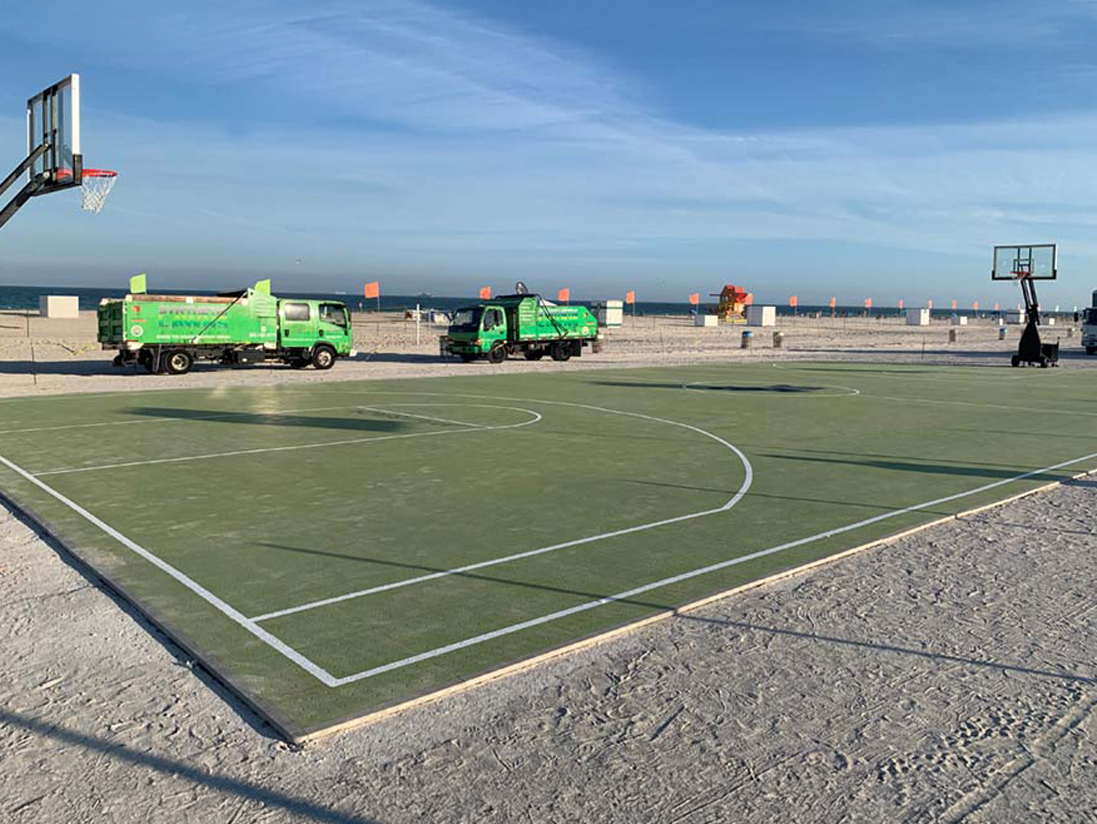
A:
[[[377,564],[381,566],[393,566],[404,569],[411,569],[420,573],[443,573],[448,572],[442,567],[431,567],[423,566],[420,564],[408,564],[399,561],[383,561],[380,558],[367,558],[359,557],[354,555],[346,555],[337,552],[327,552],[323,550],[306,550],[298,546],[284,546],[281,544],[263,543],[260,544],[269,549],[283,550],[287,552],[298,552],[307,555],[320,555],[327,557],[336,557],[348,561],[360,561],[366,564]],[[784,629],[780,627],[764,627],[760,624],[751,624],[743,621],[734,621],[724,618],[712,618],[705,616],[699,616],[693,612],[678,612],[677,607],[668,603],[659,603],[656,601],[640,600],[636,598],[612,598],[612,594],[607,592],[591,592],[581,589],[570,589],[565,587],[551,586],[547,584],[532,584],[528,580],[511,580],[508,578],[502,578],[491,575],[483,575],[478,573],[453,573],[453,577],[473,578],[476,580],[490,582],[496,584],[502,584],[507,586],[527,588],[527,589],[538,589],[550,592],[559,592],[567,596],[578,596],[580,598],[586,598],[589,600],[601,600],[601,599],[612,599],[618,603],[626,603],[634,607],[641,607],[644,609],[649,609],[656,612],[672,612],[674,618],[681,621],[695,621],[704,624],[715,624],[719,627],[727,627],[732,629],[743,630],[746,632],[760,632],[769,633],[772,635],[782,635],[787,637],[803,639],[805,641],[812,641],[817,643],[826,644],[837,644],[841,646],[853,647],[858,650],[864,650],[868,652],[880,652],[880,653],[892,653],[896,655],[908,655],[917,658],[924,658],[927,661],[938,661],[948,664],[963,664],[965,666],[972,667],[984,667],[987,669],[995,669],[1000,673],[1019,674],[1019,675],[1032,675],[1043,678],[1058,678],[1068,681],[1077,681],[1082,684],[1097,684],[1097,678],[1092,676],[1077,675],[1075,673],[1066,673],[1055,669],[1038,669],[1034,667],[1025,667],[1018,664],[1005,664],[996,661],[987,661],[984,658],[971,658],[959,655],[949,655],[947,653],[934,653],[926,650],[917,650],[906,646],[901,646],[898,644],[889,644],[879,641],[859,641],[856,639],[844,639],[836,635],[823,635],[813,632],[801,632],[799,630]],[[414,586],[414,585],[412,585]],[[367,597],[367,596],[366,596]]]

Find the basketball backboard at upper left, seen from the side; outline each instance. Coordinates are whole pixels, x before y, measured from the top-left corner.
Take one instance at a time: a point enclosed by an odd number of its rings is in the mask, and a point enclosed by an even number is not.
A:
[[[34,194],[81,184],[79,75],[69,75],[26,101],[26,154],[34,157],[29,180],[41,176],[42,181]]]

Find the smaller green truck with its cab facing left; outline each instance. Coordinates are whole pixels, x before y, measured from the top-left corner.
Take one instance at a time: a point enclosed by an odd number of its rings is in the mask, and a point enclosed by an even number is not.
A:
[[[546,354],[554,361],[566,361],[583,354],[585,346],[601,351],[602,341],[598,320],[586,306],[554,306],[540,295],[517,294],[453,313],[441,351],[465,363],[476,358],[502,363],[508,355],[519,353],[530,361]]]

